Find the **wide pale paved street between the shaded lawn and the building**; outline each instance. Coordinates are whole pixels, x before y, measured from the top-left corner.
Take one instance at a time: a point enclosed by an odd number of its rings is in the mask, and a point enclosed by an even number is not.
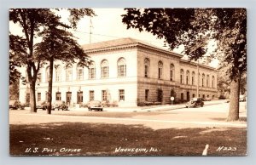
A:
[[[210,104],[211,101],[207,102]],[[200,108],[182,108],[177,106],[173,109],[171,105],[168,110],[163,106],[142,111],[111,111],[106,108],[104,111],[52,111],[52,115],[46,114],[46,111],[38,110],[38,113],[31,114],[29,110],[16,111],[9,113],[10,124],[23,123],[45,123],[45,122],[104,122],[121,124],[142,124],[153,129],[162,128],[224,128],[224,127],[247,127],[246,103],[240,105],[240,122],[225,122],[228,115],[229,104],[222,103],[205,105]]]

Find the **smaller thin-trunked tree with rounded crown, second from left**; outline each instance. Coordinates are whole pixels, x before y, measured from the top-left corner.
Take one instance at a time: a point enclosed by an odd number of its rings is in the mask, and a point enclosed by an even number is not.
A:
[[[61,29],[64,28],[64,29]],[[51,114],[52,100],[52,79],[54,61],[61,60],[67,64],[74,63],[79,60],[79,64],[88,65],[90,60],[84,53],[84,49],[74,40],[73,34],[66,31],[69,26],[63,24],[50,23],[47,28],[44,28],[39,36],[43,37],[42,42],[36,44],[36,54],[45,60],[49,61],[49,88],[48,88],[48,113]],[[70,53],[72,52],[72,53]]]

